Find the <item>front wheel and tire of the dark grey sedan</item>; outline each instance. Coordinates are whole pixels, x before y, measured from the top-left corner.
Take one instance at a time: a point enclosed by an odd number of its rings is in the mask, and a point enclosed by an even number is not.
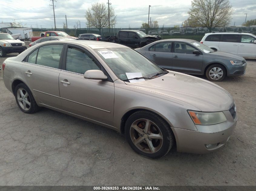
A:
[[[220,64],[214,64],[207,68],[206,77],[209,81],[221,81],[226,76],[226,69]]]

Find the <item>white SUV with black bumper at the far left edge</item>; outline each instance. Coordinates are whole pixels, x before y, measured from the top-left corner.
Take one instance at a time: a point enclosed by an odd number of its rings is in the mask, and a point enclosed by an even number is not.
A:
[[[0,33],[0,57],[9,53],[22,53],[27,49],[24,42],[14,39],[8,33]]]

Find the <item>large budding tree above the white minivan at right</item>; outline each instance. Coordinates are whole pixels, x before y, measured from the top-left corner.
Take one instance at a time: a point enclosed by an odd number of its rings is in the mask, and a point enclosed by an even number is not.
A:
[[[229,24],[233,11],[229,0],[193,0],[188,14],[198,26],[205,26],[211,32],[214,27]]]

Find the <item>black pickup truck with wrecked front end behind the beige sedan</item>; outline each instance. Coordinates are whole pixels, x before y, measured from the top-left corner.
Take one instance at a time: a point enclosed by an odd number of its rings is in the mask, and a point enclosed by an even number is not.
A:
[[[131,48],[141,48],[156,40],[161,40],[161,36],[147,35],[141,30],[119,30],[116,37],[106,37],[106,40],[102,41],[119,43]]]

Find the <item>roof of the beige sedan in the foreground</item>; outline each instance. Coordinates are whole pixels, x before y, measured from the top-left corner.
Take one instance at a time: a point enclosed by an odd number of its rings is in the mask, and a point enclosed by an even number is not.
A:
[[[55,41],[47,41],[40,43],[42,44],[50,44],[50,43],[56,43]],[[74,44],[78,46],[88,46],[91,49],[104,49],[104,48],[130,48],[125,45],[121,45],[118,43],[109,43],[109,42],[101,42],[101,41],[93,41],[93,40],[69,40],[69,41],[58,41],[58,43],[68,43],[68,44]]]

